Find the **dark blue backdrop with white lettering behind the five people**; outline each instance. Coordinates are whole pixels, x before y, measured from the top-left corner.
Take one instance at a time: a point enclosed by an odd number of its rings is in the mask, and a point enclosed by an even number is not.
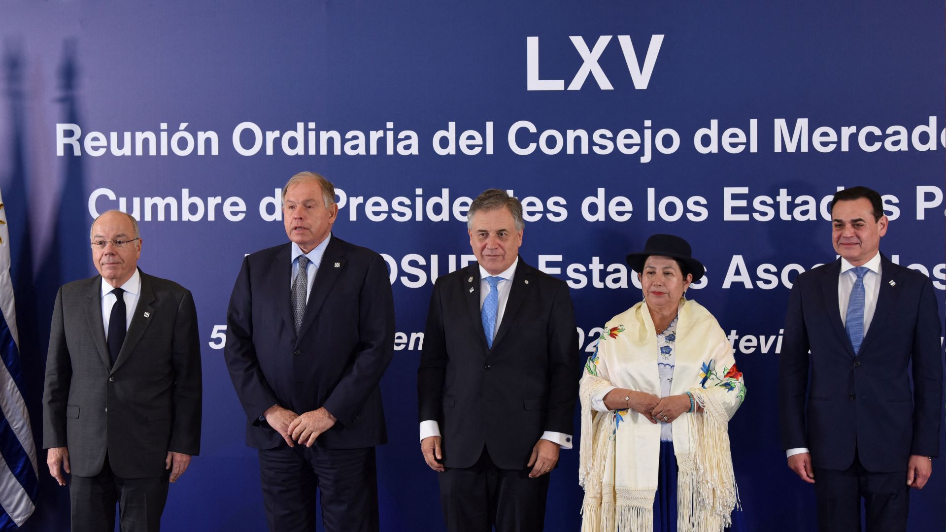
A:
[[[94,217],[131,212],[142,269],[190,289],[200,316],[201,455],[163,523],[265,529],[225,312],[244,255],[287,241],[279,189],[314,170],[337,187],[335,234],[382,254],[394,290],[382,528],[442,529],[416,370],[433,281],[475,260],[466,209],[499,187],[524,205],[522,257],[569,283],[576,358],[640,298],[627,253],[654,233],[692,243],[707,275],[688,295],[748,388],[729,425],[745,523],[811,530],[814,492],[778,437],[788,294],[835,257],[832,194],[864,185],[884,195],[881,250],[932,278],[943,315],[944,17],[876,0],[0,2],[0,187],[34,434],[56,290],[95,274]],[[67,492],[40,461],[25,529],[65,529]],[[549,530],[580,525],[577,462],[563,451],[552,472]],[[911,530],[946,526],[934,465]]]

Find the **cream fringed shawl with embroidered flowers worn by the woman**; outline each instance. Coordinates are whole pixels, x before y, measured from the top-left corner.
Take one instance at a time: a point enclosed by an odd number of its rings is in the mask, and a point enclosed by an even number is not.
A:
[[[690,391],[703,407],[673,422],[677,530],[722,531],[739,504],[727,424],[745,399],[745,385],[712,314],[681,299],[677,315],[671,395]],[[591,398],[612,385],[660,397],[657,371],[657,331],[641,302],[604,326],[582,377],[583,531],[653,530],[660,427],[634,410],[596,412]]]

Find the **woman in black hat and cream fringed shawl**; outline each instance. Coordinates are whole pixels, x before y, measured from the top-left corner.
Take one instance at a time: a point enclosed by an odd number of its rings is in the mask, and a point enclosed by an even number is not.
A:
[[[627,263],[643,301],[604,326],[581,381],[582,530],[740,529],[727,423],[745,385],[726,333],[684,297],[703,264],[673,235]]]

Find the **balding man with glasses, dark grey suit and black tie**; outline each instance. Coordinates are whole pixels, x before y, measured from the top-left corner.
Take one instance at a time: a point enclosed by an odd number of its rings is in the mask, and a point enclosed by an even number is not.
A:
[[[137,268],[134,218],[92,224],[100,275],[56,296],[43,395],[46,465],[71,473],[73,530],[158,530],[167,482],[201,447],[201,348],[190,292]],[[64,471],[64,472],[63,472]]]

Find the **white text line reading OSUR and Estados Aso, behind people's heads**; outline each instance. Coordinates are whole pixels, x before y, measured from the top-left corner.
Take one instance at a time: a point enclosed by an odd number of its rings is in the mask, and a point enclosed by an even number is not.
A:
[[[437,254],[420,255],[411,253],[395,258],[382,253],[381,257],[388,263],[388,280],[392,285],[400,283],[405,288],[418,289],[433,285],[440,275],[447,275],[459,268],[476,261],[472,255]],[[569,288],[580,290],[584,288],[596,289],[626,289],[631,286],[640,288],[638,276],[624,262],[604,263],[601,257],[590,257],[588,262],[572,262],[563,264],[565,258],[561,255],[539,255],[538,269],[549,275],[556,275],[565,279]],[[890,260],[900,264],[900,256],[893,255]],[[791,289],[795,277],[821,264],[814,264],[809,268],[797,263],[776,265],[763,262],[751,269],[742,255],[733,255],[729,259],[727,272],[723,279],[722,289],[730,290],[745,288],[747,290],[773,290],[784,287]],[[920,263],[907,266],[933,279],[933,286],[937,290],[946,290],[946,263],[939,263],[927,268]],[[564,277],[562,276],[564,275]],[[700,290],[709,286],[712,275],[708,273],[699,281],[692,283],[690,288]]]

